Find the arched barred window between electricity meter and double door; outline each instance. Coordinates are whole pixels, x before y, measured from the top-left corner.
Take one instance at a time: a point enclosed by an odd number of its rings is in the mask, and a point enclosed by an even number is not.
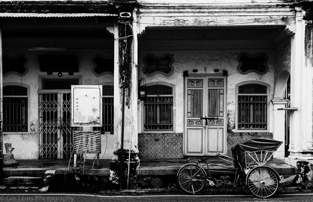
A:
[[[147,87],[144,101],[144,130],[173,130],[173,95],[172,87],[152,85]]]

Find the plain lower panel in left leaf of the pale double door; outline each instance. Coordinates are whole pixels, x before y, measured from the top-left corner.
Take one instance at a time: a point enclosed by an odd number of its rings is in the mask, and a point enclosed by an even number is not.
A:
[[[187,152],[202,153],[202,129],[187,129]]]

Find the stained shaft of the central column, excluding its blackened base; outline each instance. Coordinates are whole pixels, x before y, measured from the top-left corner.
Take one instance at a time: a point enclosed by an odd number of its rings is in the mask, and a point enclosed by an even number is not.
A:
[[[122,105],[124,105],[124,153],[137,154],[137,33],[131,21],[115,23],[115,67],[114,67],[114,149],[115,159],[121,152]],[[125,35],[126,33],[126,35]],[[136,52],[135,52],[136,51]],[[135,54],[134,54],[135,53]],[[122,103],[123,82],[125,102]]]

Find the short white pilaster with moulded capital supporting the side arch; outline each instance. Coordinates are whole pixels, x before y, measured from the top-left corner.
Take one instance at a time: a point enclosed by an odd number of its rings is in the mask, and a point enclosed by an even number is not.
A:
[[[285,108],[288,100],[273,99],[274,105],[274,132],[273,139],[282,141],[283,144],[273,154],[273,158],[284,159],[285,158],[285,110],[278,110],[279,108]]]

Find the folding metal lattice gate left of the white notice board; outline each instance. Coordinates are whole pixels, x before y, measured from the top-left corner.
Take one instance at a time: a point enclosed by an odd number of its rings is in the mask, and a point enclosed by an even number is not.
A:
[[[39,159],[69,159],[73,151],[71,94],[39,93]]]

